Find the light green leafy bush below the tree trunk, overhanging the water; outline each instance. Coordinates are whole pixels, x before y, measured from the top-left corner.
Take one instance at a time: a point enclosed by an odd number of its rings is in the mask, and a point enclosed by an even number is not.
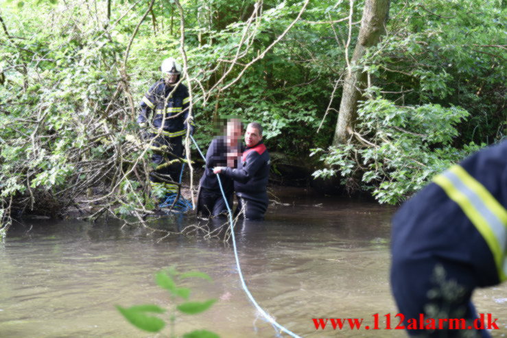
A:
[[[328,167],[314,173],[329,178],[340,173],[343,184],[360,182],[381,203],[405,200],[453,163],[485,145],[453,147],[456,125],[469,113],[438,104],[396,106],[392,101],[370,99],[359,107],[355,142],[314,149]]]

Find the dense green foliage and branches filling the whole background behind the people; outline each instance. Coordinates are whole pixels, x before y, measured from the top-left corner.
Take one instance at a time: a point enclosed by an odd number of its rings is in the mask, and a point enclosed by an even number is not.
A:
[[[350,65],[369,75],[355,134],[327,149],[363,5],[2,0],[2,224],[56,216],[82,195],[99,213],[154,208],[152,149],[126,140],[169,56],[188,64],[200,145],[221,115],[261,121],[271,150],[307,158],[318,148],[318,175],[340,174],[381,202],[504,137],[502,1],[392,1],[386,36]]]

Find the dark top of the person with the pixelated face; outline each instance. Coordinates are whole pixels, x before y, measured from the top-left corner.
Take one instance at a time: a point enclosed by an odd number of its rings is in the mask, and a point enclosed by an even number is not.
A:
[[[239,147],[241,147],[241,144],[239,144]],[[241,151],[241,149],[238,150]],[[204,175],[202,175],[200,180],[202,188],[220,194],[220,186],[218,186],[217,176],[213,173],[213,168],[225,167],[227,165],[227,152],[226,137],[220,136],[211,141],[206,153],[206,169],[204,169]],[[226,195],[233,193],[234,182],[232,178],[222,175],[220,179]]]

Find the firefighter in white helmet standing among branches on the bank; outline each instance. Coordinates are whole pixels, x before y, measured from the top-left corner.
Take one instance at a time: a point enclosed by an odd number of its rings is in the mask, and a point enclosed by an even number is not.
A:
[[[152,188],[167,195],[178,191],[178,182],[181,163],[175,161],[182,157],[182,137],[190,128],[193,134],[193,123],[188,123],[189,116],[189,92],[184,84],[179,83],[182,75],[181,66],[174,58],[163,60],[161,71],[165,77],[155,82],[141,100],[141,114],[137,123],[141,128],[146,128],[149,138],[155,138],[155,147],[167,146],[165,152],[155,152],[152,162],[156,169],[150,173]]]

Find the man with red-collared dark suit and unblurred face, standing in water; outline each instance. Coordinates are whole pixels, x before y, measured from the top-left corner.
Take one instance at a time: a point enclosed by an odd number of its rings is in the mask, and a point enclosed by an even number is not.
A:
[[[215,167],[213,172],[234,180],[238,197],[237,212],[245,208],[245,218],[264,219],[268,209],[268,177],[270,155],[262,143],[262,127],[257,122],[249,123],[245,132],[246,149],[237,168]]]

